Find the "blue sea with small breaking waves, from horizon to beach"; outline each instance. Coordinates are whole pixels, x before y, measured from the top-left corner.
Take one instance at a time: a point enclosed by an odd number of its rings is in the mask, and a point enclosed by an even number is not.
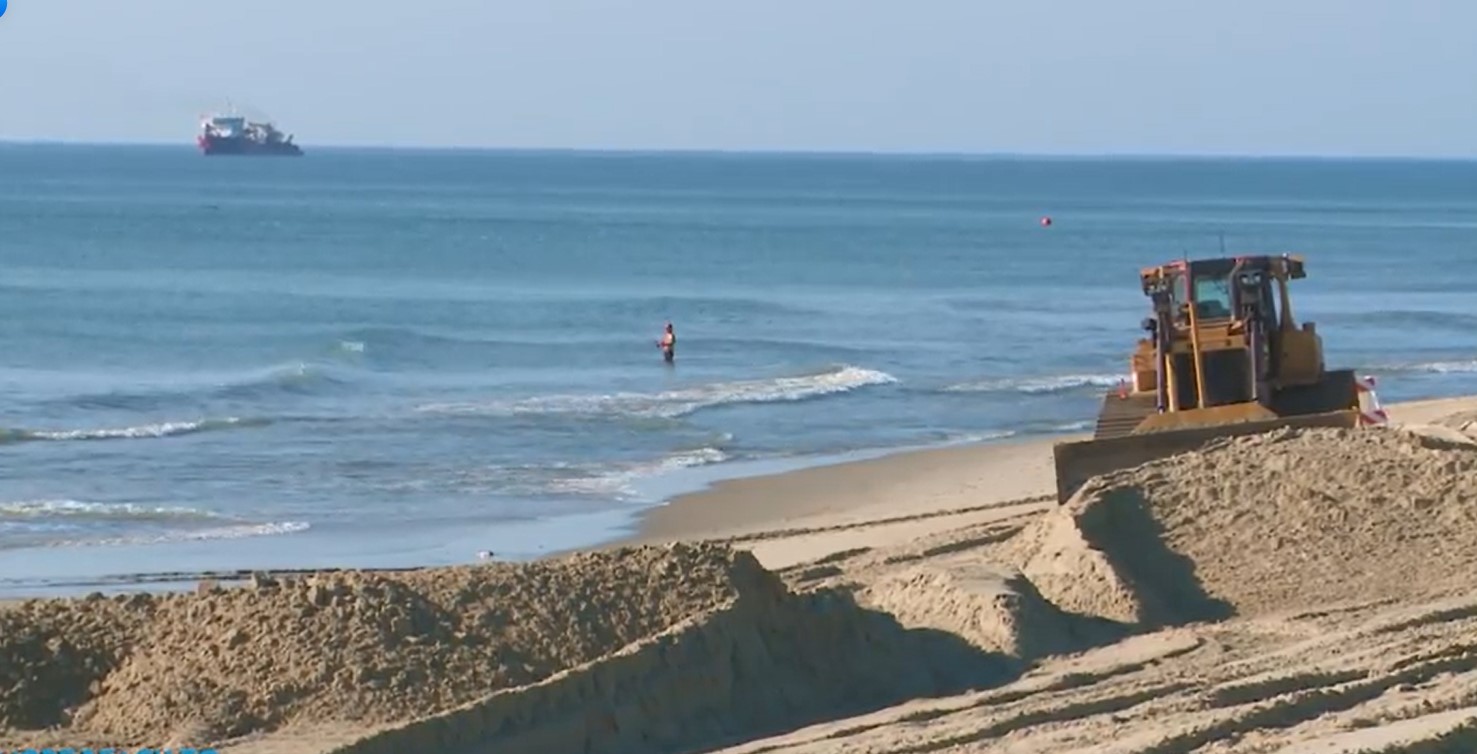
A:
[[[1307,256],[1385,401],[1477,392],[1474,163],[0,146],[0,590],[529,557],[746,461],[1077,430],[1137,269],[1221,235]]]

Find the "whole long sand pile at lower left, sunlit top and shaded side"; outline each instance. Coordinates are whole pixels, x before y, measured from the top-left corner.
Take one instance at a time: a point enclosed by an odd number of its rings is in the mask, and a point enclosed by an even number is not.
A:
[[[685,751],[1019,670],[716,544],[32,600],[0,621],[0,748],[356,721],[388,727],[346,751]]]

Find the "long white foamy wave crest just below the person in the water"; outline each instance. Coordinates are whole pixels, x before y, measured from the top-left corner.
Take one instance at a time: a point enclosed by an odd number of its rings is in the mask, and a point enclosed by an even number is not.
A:
[[[799,377],[710,383],[660,393],[554,395],[486,404],[427,404],[419,411],[442,414],[625,414],[676,418],[694,411],[733,404],[774,404],[846,393],[860,387],[898,381],[888,373],[861,367],[839,367]]]

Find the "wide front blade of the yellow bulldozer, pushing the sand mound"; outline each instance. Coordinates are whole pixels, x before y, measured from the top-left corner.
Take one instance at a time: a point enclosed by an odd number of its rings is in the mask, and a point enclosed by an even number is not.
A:
[[[1158,429],[1117,438],[1060,442],[1052,449],[1056,461],[1056,501],[1066,503],[1093,476],[1131,469],[1179,452],[1193,451],[1220,438],[1258,435],[1282,427],[1359,426],[1357,410],[1326,411],[1266,420]]]

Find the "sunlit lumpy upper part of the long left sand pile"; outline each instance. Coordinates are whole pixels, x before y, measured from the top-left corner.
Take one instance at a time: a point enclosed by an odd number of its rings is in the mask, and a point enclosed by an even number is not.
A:
[[[0,727],[192,742],[298,720],[383,723],[533,683],[743,593],[747,553],[672,546],[0,612]],[[177,733],[179,735],[179,733]]]

